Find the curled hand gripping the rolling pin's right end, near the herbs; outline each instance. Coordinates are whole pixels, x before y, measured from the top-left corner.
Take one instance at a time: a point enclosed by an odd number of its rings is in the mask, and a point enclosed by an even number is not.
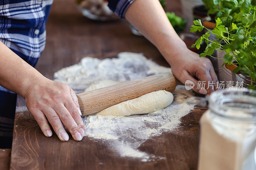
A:
[[[168,59],[167,59],[168,61]],[[192,81],[195,86],[193,90],[201,94],[211,94],[217,90],[218,78],[214,72],[211,61],[188,48],[177,50],[168,61],[172,68],[172,74],[183,84],[187,80]],[[201,81],[201,84],[198,83]],[[205,83],[204,88],[202,83]]]

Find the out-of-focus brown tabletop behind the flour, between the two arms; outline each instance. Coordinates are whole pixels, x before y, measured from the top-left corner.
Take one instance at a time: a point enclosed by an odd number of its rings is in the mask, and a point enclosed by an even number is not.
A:
[[[117,17],[110,21],[89,19],[82,14],[78,2],[53,1],[46,25],[46,46],[36,65],[44,76],[53,79],[54,72],[78,63],[86,56],[106,58],[123,51],[143,53],[168,67],[149,41],[131,32],[126,20]],[[165,9],[182,16],[179,0],[167,0]]]

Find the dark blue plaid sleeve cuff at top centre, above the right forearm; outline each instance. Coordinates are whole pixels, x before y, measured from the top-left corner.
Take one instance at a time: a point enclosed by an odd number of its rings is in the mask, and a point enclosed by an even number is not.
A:
[[[134,0],[108,0],[108,7],[120,18],[124,18],[124,14]]]

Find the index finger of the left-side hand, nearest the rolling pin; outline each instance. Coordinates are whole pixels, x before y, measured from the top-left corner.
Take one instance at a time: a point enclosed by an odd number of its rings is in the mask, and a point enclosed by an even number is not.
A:
[[[79,115],[79,112],[77,110],[77,107],[76,107],[74,101],[72,99],[70,99],[69,101],[67,101],[65,103],[65,107],[68,109],[68,112],[75,120],[77,126],[81,129],[81,131],[82,131],[81,135],[84,136],[84,134],[85,134],[84,122],[83,122],[81,116]]]

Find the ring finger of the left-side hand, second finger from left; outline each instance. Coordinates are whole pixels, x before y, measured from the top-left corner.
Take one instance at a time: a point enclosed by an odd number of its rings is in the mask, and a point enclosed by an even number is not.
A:
[[[59,137],[59,139],[61,141],[68,141],[69,136],[60,121],[60,117],[57,115],[54,109],[52,107],[46,107],[42,111],[52,125],[52,128]]]

